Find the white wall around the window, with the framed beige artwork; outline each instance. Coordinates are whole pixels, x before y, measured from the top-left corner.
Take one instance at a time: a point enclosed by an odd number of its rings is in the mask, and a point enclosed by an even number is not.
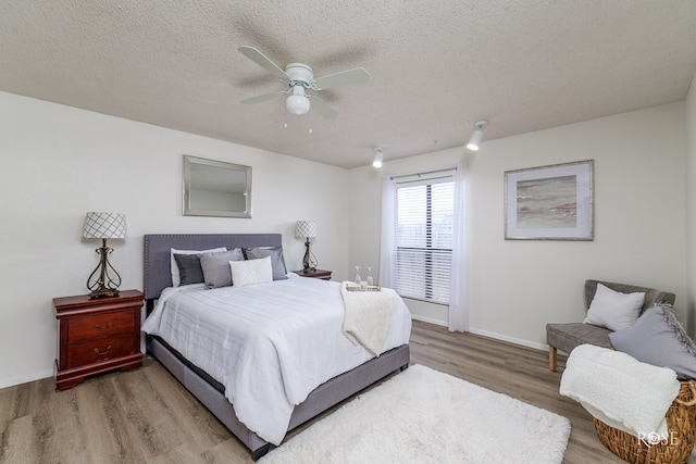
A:
[[[495,124],[495,121],[492,122]],[[385,147],[385,152],[388,147]],[[378,262],[380,183],[468,161],[472,331],[545,348],[548,322],[580,322],[583,281],[598,278],[676,293],[686,309],[686,130],[684,103],[444,150],[349,172],[349,262]],[[595,160],[595,240],[504,239],[506,171]],[[440,308],[408,302],[425,319]]]

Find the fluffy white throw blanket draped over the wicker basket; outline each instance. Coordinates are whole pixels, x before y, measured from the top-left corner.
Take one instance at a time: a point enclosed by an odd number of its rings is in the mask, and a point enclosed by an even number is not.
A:
[[[639,439],[660,440],[668,437],[664,415],[679,389],[676,373],[668,367],[581,344],[568,358],[560,393],[614,428]]]

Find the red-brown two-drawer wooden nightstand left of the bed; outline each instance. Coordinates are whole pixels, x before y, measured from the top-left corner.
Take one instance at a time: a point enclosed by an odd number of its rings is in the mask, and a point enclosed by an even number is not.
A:
[[[58,319],[55,389],[65,390],[86,377],[142,367],[140,310],[145,296],[125,290],[117,297],[87,294],[54,298]]]

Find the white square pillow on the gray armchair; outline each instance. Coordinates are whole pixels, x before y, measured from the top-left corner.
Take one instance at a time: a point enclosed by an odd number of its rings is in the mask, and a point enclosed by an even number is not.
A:
[[[641,309],[645,303],[645,293],[622,293],[614,291],[601,284],[597,284],[597,291],[585,324],[606,327],[609,330],[621,330],[631,327],[641,315]]]

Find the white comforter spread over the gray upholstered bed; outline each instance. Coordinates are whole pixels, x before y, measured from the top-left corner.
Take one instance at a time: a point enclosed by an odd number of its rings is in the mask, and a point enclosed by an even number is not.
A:
[[[142,330],[224,385],[237,418],[278,444],[296,404],[373,358],[343,334],[344,315],[339,283],[291,275],[241,288],[167,288]],[[400,299],[393,319],[382,352],[409,341]]]

